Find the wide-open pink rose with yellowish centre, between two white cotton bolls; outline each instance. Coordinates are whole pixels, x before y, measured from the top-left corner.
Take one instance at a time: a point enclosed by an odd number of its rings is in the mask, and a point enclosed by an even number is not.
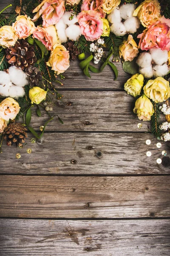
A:
[[[82,35],[87,41],[94,41],[103,33],[103,21],[98,12],[82,11],[77,16]]]

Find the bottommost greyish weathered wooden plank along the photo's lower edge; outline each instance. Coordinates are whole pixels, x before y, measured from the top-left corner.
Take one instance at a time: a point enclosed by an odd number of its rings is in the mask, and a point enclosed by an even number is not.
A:
[[[3,256],[168,256],[169,220],[0,220]]]

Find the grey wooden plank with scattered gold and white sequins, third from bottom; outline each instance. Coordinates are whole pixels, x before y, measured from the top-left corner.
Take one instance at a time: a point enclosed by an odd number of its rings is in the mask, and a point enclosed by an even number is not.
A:
[[[42,144],[31,144],[31,134],[24,148],[9,148],[3,144],[0,173],[17,174],[169,174],[169,151],[167,143],[161,148],[152,134],[138,133],[46,133]],[[146,140],[151,140],[146,145]],[[27,154],[26,149],[32,153]],[[152,156],[147,157],[146,152]],[[21,154],[20,159],[15,155]],[[157,158],[162,159],[157,164]],[[77,164],[71,163],[76,160]],[[165,163],[164,160],[167,160]],[[12,164],[6,165],[11,162]]]

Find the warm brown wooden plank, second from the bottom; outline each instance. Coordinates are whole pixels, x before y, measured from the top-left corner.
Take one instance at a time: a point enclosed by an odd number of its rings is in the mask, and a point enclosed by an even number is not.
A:
[[[0,217],[170,216],[170,179],[1,175]]]

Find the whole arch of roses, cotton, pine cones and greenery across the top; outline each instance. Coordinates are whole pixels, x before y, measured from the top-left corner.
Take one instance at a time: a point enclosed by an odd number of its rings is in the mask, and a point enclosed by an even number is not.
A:
[[[133,112],[140,120],[151,119],[151,132],[166,140],[161,130],[170,127],[168,1],[14,0],[14,5],[10,13],[4,13],[9,6],[0,12],[0,148],[3,138],[21,147],[25,126],[42,137],[54,118],[50,95],[62,97],[52,82],[62,84],[62,73],[77,58],[89,78],[90,71],[100,73],[109,65],[115,79],[113,62],[122,58],[123,69],[133,75],[125,83],[127,93],[137,98]],[[35,107],[38,116],[41,108],[50,116],[40,135],[30,126]],[[167,125],[159,124],[160,110]],[[20,116],[23,124],[14,122]]]

